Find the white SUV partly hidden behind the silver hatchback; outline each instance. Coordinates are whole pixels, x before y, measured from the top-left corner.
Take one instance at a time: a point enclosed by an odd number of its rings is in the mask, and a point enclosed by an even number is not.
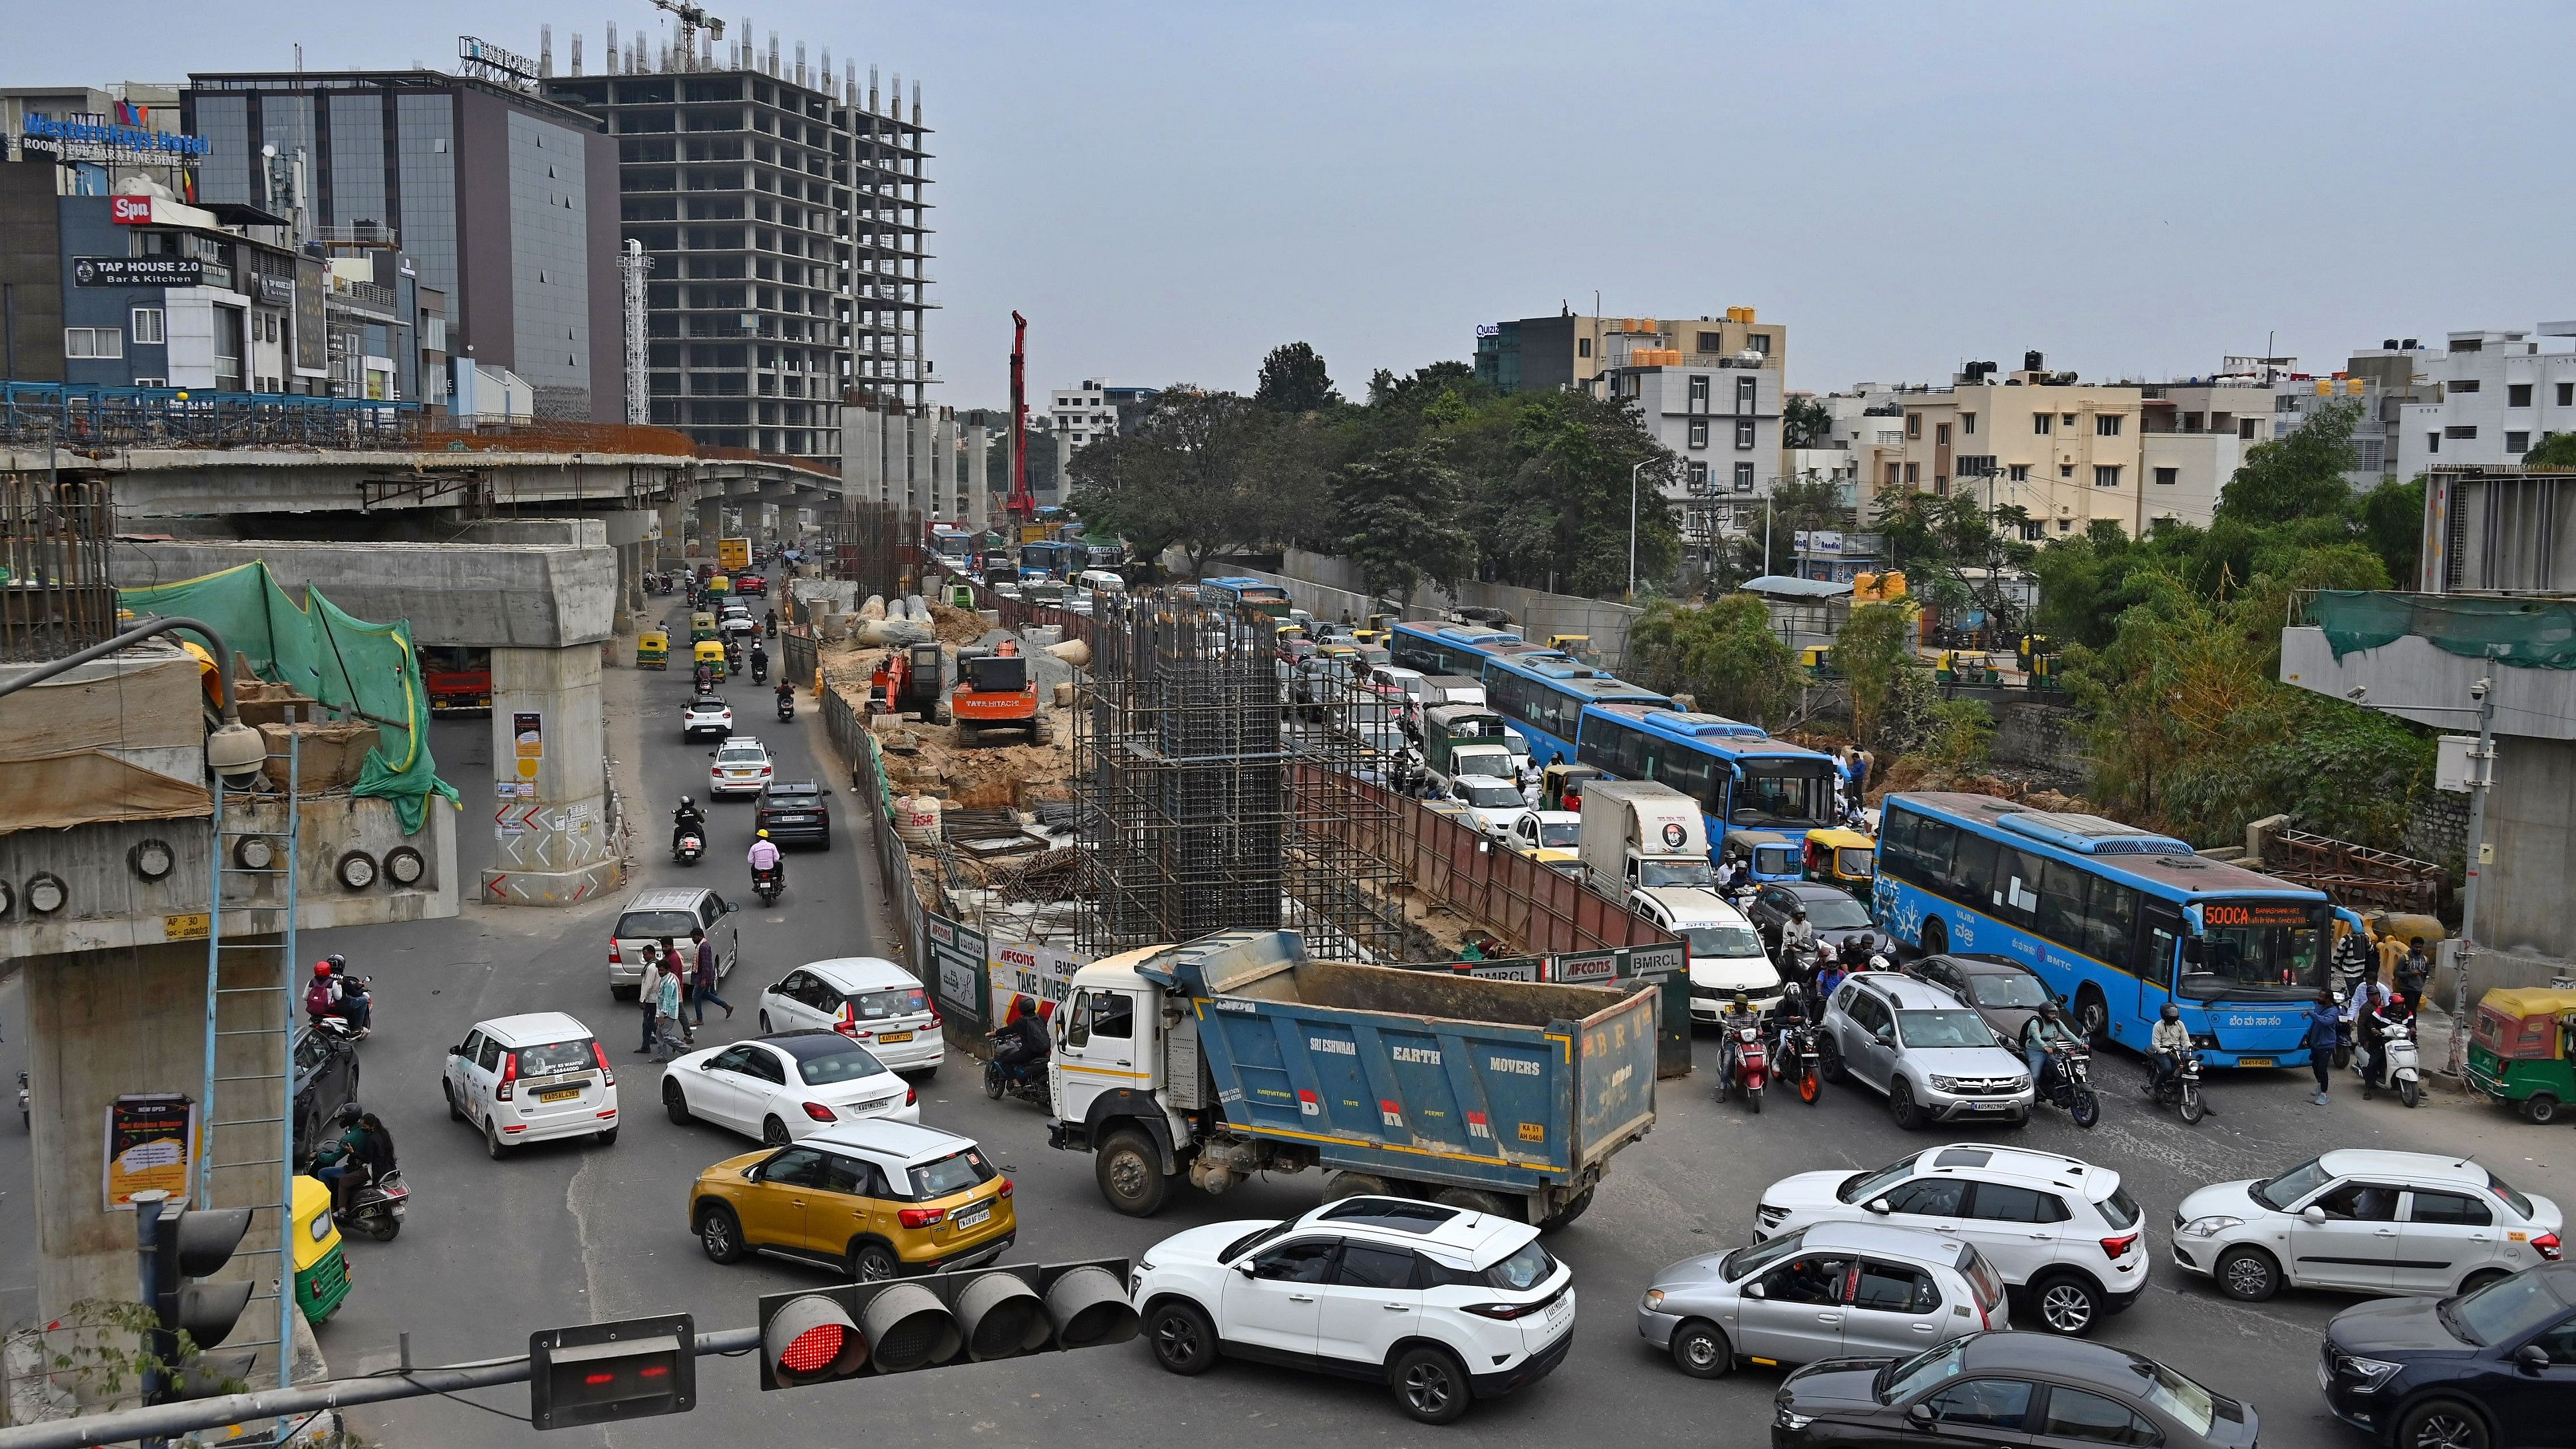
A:
[[[1762,1189],[1754,1238],[1886,1223],[1976,1243],[2050,1333],[2092,1333],[2146,1292],[2146,1217],[2120,1174],[2022,1148],[1953,1143],[1878,1171],[1803,1171]]]

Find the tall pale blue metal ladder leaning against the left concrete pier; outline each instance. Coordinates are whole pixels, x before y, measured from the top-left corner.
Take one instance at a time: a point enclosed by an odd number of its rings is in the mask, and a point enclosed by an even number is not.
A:
[[[294,708],[286,723],[296,721]],[[245,829],[227,818],[224,780],[214,780],[214,888],[206,916],[206,1084],[204,1148],[198,1150],[196,1204],[250,1207],[250,1230],[232,1261],[247,1264],[255,1284],[250,1305],[224,1338],[224,1351],[252,1349],[273,1354],[276,1385],[294,1387],[294,1099],[299,1019],[296,991],[296,865],[301,860],[301,752],[286,736],[286,831]],[[242,790],[240,795],[255,795]],[[242,865],[234,852],[250,839],[268,842],[268,865]],[[240,911],[283,909],[286,932],[278,942],[224,939],[227,903]],[[263,957],[273,965],[265,968]],[[232,1004],[232,1009],[227,1009]],[[276,1068],[255,1063],[265,1053],[258,1040],[276,1042]],[[242,1050],[242,1048],[250,1050]],[[224,1060],[229,1053],[234,1060]],[[240,1058],[250,1058],[247,1063]],[[250,1068],[250,1071],[227,1071]],[[273,1096],[273,1102],[270,1102]],[[265,1130],[263,1130],[265,1127]],[[268,1313],[263,1313],[263,1305]],[[252,1369],[252,1387],[265,1387],[265,1367]]]

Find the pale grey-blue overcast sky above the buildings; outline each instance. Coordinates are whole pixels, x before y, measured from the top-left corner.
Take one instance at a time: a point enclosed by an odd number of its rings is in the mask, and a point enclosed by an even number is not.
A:
[[[644,0],[108,3],[8,82],[556,67]],[[724,0],[793,54],[922,82],[940,401],[1249,389],[1309,340],[1345,394],[1479,322],[1754,306],[1793,389],[2094,376],[2576,317],[2576,5]],[[819,59],[819,57],[817,57]]]

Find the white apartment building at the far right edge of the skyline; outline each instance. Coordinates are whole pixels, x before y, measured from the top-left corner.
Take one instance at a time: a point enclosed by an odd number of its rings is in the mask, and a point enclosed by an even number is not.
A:
[[[2452,332],[2442,353],[2406,353],[2414,386],[2396,404],[2396,476],[2434,466],[2519,463],[2550,432],[2576,432],[2576,350],[2543,350],[2545,337],[2576,337],[2576,322],[2527,332]],[[2354,368],[2362,363],[2354,355]],[[2380,365],[2393,358],[2375,355]]]

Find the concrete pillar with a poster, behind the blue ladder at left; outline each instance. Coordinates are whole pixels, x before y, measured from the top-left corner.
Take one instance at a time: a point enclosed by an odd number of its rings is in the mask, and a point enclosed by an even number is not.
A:
[[[276,950],[255,950],[258,942]],[[224,945],[242,950],[224,950],[222,986],[229,993],[219,999],[216,1027],[245,1035],[216,1037],[219,1076],[258,1081],[216,1086],[214,1114],[252,1125],[209,1132],[219,1166],[214,1204],[258,1207],[278,1202],[283,1186],[273,1166],[286,1099],[283,1029],[301,1001],[273,991],[291,991],[296,981],[278,937],[232,937]],[[103,1186],[108,1109],[118,1096],[175,1091],[196,1102],[201,1127],[209,1122],[206,1102],[198,1102],[206,1091],[206,942],[28,957],[26,1027],[28,1132],[39,1171],[36,1251],[21,1253],[21,1261],[33,1259],[36,1315],[59,1318],[88,1297],[131,1302],[134,1212],[108,1210]],[[250,1261],[263,1243],[276,1253],[276,1217],[252,1217],[234,1271],[224,1277],[276,1277],[273,1256]],[[276,1338],[273,1315],[273,1302],[250,1305],[237,1338]]]

